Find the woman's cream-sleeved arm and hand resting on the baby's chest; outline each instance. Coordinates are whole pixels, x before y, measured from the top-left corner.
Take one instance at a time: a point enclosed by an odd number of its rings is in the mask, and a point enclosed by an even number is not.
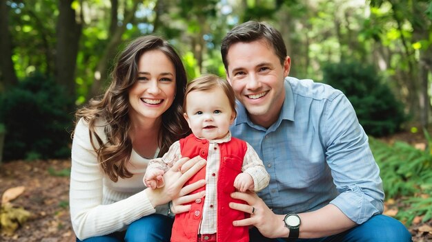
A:
[[[88,127],[80,120],[72,142],[70,174],[70,217],[75,234],[79,239],[110,234],[125,228],[132,221],[153,214],[156,206],[168,203],[179,195],[184,182],[204,166],[205,161],[199,161],[203,159],[192,160],[190,163],[195,163],[190,164],[192,168],[185,174],[179,172],[178,167],[177,170],[168,170],[163,189],[153,192],[146,189],[121,201],[102,205],[103,192],[107,192],[103,190],[104,173],[90,144]]]

